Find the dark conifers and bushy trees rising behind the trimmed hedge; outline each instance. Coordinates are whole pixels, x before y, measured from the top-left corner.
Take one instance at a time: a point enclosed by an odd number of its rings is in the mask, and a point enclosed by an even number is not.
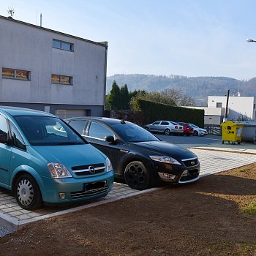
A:
[[[136,99],[144,99],[151,102],[162,103],[172,106],[194,106],[195,100],[181,90],[164,89],[162,91],[135,90],[128,91],[127,84],[119,87],[113,80],[110,94],[106,96],[105,110],[138,110]]]

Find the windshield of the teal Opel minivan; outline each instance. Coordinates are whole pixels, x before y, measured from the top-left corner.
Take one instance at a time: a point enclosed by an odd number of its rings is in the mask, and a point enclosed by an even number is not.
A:
[[[15,116],[14,118],[32,146],[85,143],[59,118],[49,116]]]

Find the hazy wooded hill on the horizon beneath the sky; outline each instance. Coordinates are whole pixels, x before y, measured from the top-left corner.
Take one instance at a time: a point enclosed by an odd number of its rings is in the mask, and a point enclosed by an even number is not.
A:
[[[241,96],[256,96],[256,78],[246,81],[225,77],[189,78],[181,75],[112,75],[107,78],[107,93],[111,90],[113,80],[116,80],[118,86],[127,84],[129,91],[178,89],[182,94],[194,98],[198,106],[207,105],[209,95],[225,96],[228,89],[230,96],[236,96],[238,90]]]

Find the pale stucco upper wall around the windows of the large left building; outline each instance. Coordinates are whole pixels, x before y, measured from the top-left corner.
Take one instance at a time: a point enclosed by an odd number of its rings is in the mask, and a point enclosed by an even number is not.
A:
[[[52,47],[53,39],[74,44],[74,52]],[[104,105],[105,45],[0,17],[0,68],[31,72],[31,80],[0,75],[0,102]],[[51,74],[73,85],[51,83]]]

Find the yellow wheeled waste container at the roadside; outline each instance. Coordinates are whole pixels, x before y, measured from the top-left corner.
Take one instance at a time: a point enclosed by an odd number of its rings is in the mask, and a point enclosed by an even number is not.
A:
[[[239,123],[238,121],[225,121],[221,124],[222,127],[222,144],[225,141],[228,143],[238,144],[241,143],[242,138],[242,129],[244,124]]]

